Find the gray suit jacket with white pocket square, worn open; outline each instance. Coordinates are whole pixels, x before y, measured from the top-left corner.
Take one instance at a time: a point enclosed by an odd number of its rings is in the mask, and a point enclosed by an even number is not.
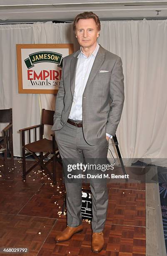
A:
[[[69,117],[79,53],[80,50],[63,59],[53,131],[60,130]],[[102,70],[108,72],[100,72]],[[115,136],[123,103],[124,75],[121,58],[100,46],[82,97],[82,126],[88,144],[96,145],[105,138],[106,133]]]

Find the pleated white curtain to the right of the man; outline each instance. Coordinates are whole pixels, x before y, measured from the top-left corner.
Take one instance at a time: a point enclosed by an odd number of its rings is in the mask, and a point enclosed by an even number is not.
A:
[[[122,58],[122,156],[167,164],[167,20],[103,22],[99,42]]]

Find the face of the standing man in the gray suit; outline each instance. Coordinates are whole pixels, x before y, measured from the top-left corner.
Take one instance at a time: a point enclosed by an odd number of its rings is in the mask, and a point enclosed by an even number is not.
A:
[[[75,34],[80,46],[95,46],[97,37],[99,37],[99,31],[97,30],[95,20],[93,18],[78,20],[76,23]]]

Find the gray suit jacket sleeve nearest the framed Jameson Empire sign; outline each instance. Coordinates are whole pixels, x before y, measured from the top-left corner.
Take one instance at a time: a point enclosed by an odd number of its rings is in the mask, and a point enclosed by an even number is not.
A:
[[[54,123],[57,121],[60,122],[60,119],[62,116],[62,110],[64,108],[65,91],[64,91],[64,82],[63,82],[63,72],[64,72],[64,59],[62,61],[62,76],[60,79],[60,86],[56,96],[55,113],[53,116]]]

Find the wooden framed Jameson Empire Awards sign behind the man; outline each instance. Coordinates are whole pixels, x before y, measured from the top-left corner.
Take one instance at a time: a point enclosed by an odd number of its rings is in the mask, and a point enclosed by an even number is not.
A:
[[[73,44],[17,44],[19,93],[53,93],[60,85],[62,60]]]

